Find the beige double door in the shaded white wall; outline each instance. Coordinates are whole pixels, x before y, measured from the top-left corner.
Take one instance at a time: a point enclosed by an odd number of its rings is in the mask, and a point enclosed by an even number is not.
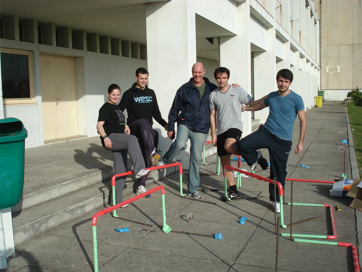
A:
[[[44,141],[78,135],[75,61],[40,56]]]

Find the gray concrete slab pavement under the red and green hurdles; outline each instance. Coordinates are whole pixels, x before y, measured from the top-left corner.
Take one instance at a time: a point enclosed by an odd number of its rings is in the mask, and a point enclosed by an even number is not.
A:
[[[342,104],[324,102],[322,108],[312,108],[306,112],[306,116],[304,151],[294,154],[292,149],[287,177],[333,180],[346,173],[347,178],[351,178],[353,169],[349,149],[346,148],[345,160],[344,154],[338,151],[342,140],[348,137]],[[292,148],[295,148],[298,137],[299,122],[296,120]],[[69,151],[74,153],[74,149]],[[269,161],[268,152],[262,152]],[[100,157],[104,156],[106,154]],[[34,163],[35,161],[34,158]],[[201,172],[215,173],[215,162],[216,155],[208,157],[208,166],[202,166]],[[302,168],[301,164],[310,168]],[[71,160],[67,165],[71,168]],[[232,165],[236,166],[236,162],[232,162]],[[242,168],[248,169],[248,166],[243,165]],[[38,169],[38,172],[41,170]],[[267,177],[268,170],[263,171],[258,167],[256,173]],[[186,190],[186,173],[183,180]],[[251,177],[242,179],[240,192],[245,198],[257,197],[256,199],[222,202],[222,191],[203,193],[203,199],[214,202],[215,205],[181,198],[178,195],[178,173],[172,173],[166,178],[160,177],[158,181],[148,185],[147,189],[157,185],[165,186],[167,224],[173,230],[201,234],[221,232],[223,239],[173,232],[165,234],[161,231],[161,195],[153,193],[151,198],[139,199],[128,207],[117,210],[121,217],[152,222],[153,227],[113,218],[110,214],[98,219],[100,271],[275,271],[277,236],[274,233],[274,212],[268,198],[266,182]],[[95,186],[99,187],[99,184]],[[223,189],[223,186],[222,175],[201,176],[201,189]],[[287,182],[286,202],[290,202],[290,187]],[[352,199],[330,197],[330,184],[294,182],[293,189],[293,202],[340,206],[341,211],[334,210],[336,242],[358,243],[355,210],[349,207]],[[132,196],[133,193],[124,199]],[[9,257],[9,267],[5,271],[93,271],[90,221],[98,210],[100,209],[90,211],[33,240],[18,244],[16,252]],[[186,221],[185,217],[189,213],[195,215],[195,221]],[[247,217],[248,221],[241,225],[237,221],[243,216]],[[293,222],[319,216],[319,219],[293,226],[293,233],[332,234],[328,208],[293,207]],[[286,224],[290,223],[290,206],[284,206],[284,219]],[[118,227],[128,227],[130,231],[116,232],[115,228]],[[155,232],[140,232],[142,228]],[[289,231],[290,228],[280,229],[280,232]],[[350,248],[298,243],[292,242],[289,237],[279,237],[278,255],[279,271],[353,271]]]

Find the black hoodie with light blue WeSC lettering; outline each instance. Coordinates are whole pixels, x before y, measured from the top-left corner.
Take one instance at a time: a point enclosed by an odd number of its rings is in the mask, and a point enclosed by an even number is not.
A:
[[[136,87],[136,82],[122,95],[119,107],[122,111],[127,109],[127,124],[139,119],[146,119],[153,125],[152,117],[163,127],[167,122],[162,119],[157,104],[156,94],[146,85],[144,90]]]

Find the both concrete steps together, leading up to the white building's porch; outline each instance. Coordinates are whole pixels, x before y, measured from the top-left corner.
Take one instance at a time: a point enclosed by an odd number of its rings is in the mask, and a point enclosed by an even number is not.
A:
[[[205,157],[216,153],[216,147],[205,146]],[[128,168],[131,169],[128,160]],[[178,171],[178,167],[153,170],[146,185]],[[24,189],[20,204],[12,207],[14,243],[18,245],[73,221],[95,209],[101,209],[111,200],[113,168],[85,169],[83,172]],[[134,194],[136,180],[127,177],[123,188],[124,199]]]

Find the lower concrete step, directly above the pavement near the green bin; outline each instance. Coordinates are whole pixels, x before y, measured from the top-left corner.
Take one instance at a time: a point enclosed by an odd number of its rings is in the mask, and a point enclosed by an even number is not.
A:
[[[166,168],[162,172],[153,170],[148,176],[146,185],[152,184],[176,170],[178,170],[177,167]],[[72,183],[95,178],[95,176],[96,175],[84,176],[78,181],[72,181]],[[99,182],[100,180],[101,179],[98,179],[96,184],[68,192],[50,201],[42,202],[13,213],[15,245],[42,235],[62,224],[73,221],[92,210],[101,209],[102,206],[108,205],[111,199],[111,181],[110,178],[106,178],[106,181],[102,182]],[[66,186],[63,187],[64,191],[66,190],[65,188]],[[123,196],[133,194],[135,189],[136,180],[130,179],[123,188]],[[125,197],[125,199],[127,198],[128,197]]]

